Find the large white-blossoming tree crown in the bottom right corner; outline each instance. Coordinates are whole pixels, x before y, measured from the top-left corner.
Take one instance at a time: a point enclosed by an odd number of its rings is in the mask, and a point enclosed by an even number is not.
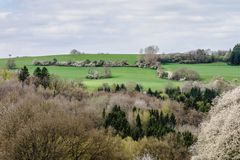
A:
[[[218,98],[202,123],[193,160],[239,159],[240,151],[240,88]]]

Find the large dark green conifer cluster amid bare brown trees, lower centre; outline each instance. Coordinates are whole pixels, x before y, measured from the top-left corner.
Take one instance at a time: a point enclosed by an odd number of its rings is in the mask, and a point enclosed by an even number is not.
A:
[[[126,113],[121,110],[120,106],[115,105],[110,113],[104,115],[104,127],[113,127],[116,133],[122,137],[131,136],[134,140],[141,139],[144,136],[160,138],[164,135],[174,132],[176,119],[172,113],[164,115],[158,110],[149,110],[149,119],[146,127],[143,127],[140,114],[137,114],[135,126],[131,127],[126,118]]]

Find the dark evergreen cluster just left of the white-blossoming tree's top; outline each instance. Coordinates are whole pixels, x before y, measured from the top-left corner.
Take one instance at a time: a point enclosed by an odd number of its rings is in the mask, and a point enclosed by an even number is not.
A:
[[[193,87],[189,92],[181,92],[180,88],[166,88],[165,93],[170,99],[182,102],[187,108],[195,108],[201,112],[208,112],[211,109],[212,101],[219,93],[214,89]]]

